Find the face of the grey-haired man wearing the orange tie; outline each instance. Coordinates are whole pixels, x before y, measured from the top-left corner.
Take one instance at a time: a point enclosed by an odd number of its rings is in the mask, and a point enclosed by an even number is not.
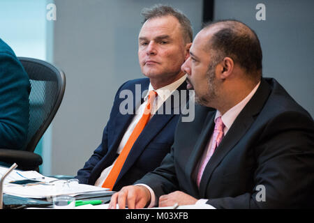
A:
[[[142,73],[150,79],[173,79],[186,59],[181,25],[173,16],[147,20],[138,38],[138,58]]]

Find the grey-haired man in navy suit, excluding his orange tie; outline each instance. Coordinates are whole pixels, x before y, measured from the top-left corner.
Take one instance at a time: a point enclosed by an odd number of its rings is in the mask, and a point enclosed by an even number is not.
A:
[[[188,93],[181,91],[186,90],[186,75],[181,65],[189,56],[192,28],[183,13],[169,6],[154,6],[143,10],[142,15],[144,24],[138,38],[138,57],[142,73],[148,78],[130,80],[117,91],[103,140],[77,171],[80,183],[104,187],[143,114],[151,90],[157,93],[151,118],[128,153],[112,190],[130,185],[158,167],[173,144],[180,114],[175,111],[181,111],[180,102],[185,106],[188,98]],[[126,98],[126,95],[133,97]]]

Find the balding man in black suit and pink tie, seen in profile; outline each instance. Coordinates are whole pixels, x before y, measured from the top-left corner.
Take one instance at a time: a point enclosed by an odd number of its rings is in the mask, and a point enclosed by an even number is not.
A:
[[[199,104],[195,121],[179,121],[160,167],[114,194],[110,208],[313,208],[313,118],[262,78],[254,31],[234,20],[209,24],[182,70]]]

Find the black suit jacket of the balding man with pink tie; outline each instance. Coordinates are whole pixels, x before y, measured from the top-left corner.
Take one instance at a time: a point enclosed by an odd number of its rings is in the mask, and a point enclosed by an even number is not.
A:
[[[314,123],[275,79],[264,79],[234,120],[204,169],[195,169],[214,131],[216,111],[195,107],[179,121],[174,145],[160,167],[136,183],[158,199],[180,190],[215,208],[313,208]]]

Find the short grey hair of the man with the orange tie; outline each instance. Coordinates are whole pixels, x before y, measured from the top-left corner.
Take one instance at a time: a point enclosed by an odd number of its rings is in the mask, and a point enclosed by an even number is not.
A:
[[[186,15],[184,15],[184,13],[182,13],[180,10],[174,9],[171,6],[156,4],[151,8],[143,8],[141,15],[144,17],[144,21],[142,22],[143,24],[147,20],[155,17],[163,17],[167,15],[176,17],[179,21],[179,24],[181,24],[184,40],[186,43],[192,42],[193,29],[190,24],[190,20],[188,20],[188,17],[186,17]]]

